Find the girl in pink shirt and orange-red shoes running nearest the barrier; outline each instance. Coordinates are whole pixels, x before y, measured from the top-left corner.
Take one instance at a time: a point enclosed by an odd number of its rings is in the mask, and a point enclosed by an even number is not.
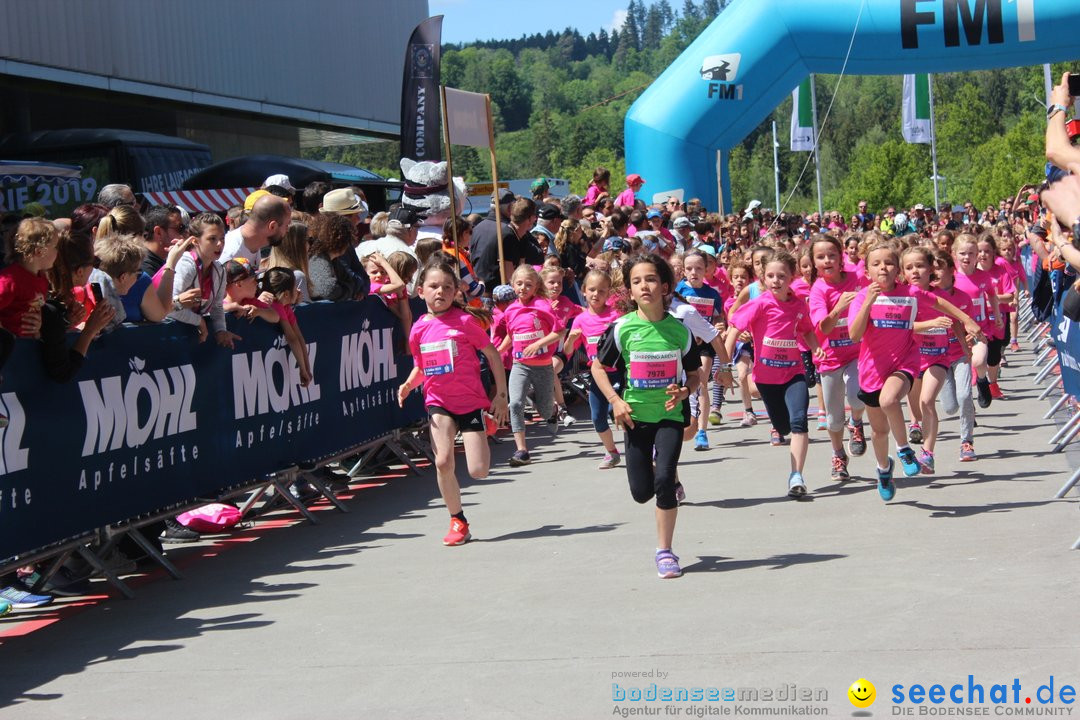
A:
[[[489,408],[497,423],[505,421],[507,380],[499,353],[481,324],[482,317],[489,321],[490,316],[455,299],[460,288],[454,268],[446,262],[429,263],[420,272],[417,287],[428,312],[417,320],[409,335],[416,365],[397,389],[397,404],[404,405],[413,389],[423,385],[438,491],[450,512],[450,531],[443,538],[443,544],[462,545],[472,534],[461,508],[454,438],[461,433],[469,475],[487,477],[490,453],[483,411]],[[495,376],[492,400],[481,381],[477,351],[487,358]]]

